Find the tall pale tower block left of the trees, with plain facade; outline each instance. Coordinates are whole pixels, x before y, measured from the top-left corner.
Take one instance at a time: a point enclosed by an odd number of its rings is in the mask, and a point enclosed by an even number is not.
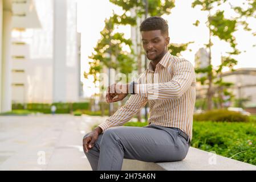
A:
[[[52,96],[54,102],[79,101],[80,36],[76,29],[76,2],[55,0]]]

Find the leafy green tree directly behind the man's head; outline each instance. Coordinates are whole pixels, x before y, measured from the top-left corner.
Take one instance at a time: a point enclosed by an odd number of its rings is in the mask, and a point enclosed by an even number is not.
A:
[[[170,14],[171,9],[174,7],[174,0],[109,0],[113,4],[122,7],[123,14],[118,15],[113,13],[111,18],[105,21],[104,30],[101,31],[102,38],[95,47],[95,53],[90,56],[93,60],[90,63],[89,73],[84,73],[87,78],[88,75],[93,75],[94,80],[99,81],[99,73],[103,67],[114,68],[121,73],[131,73],[136,70],[138,74],[142,72],[142,57],[145,55],[141,48],[141,40],[137,37],[136,45],[132,45],[131,39],[124,39],[123,34],[113,31],[120,25],[130,25],[139,30],[141,20],[145,18],[145,15],[161,16],[163,14]],[[132,14],[134,12],[135,14]],[[140,21],[138,21],[140,20]],[[125,44],[129,46],[131,52],[125,52],[121,49],[121,45]],[[172,55],[178,55],[181,51],[185,51],[189,43],[175,44],[171,43],[168,47]],[[133,47],[132,47],[133,46]],[[106,53],[111,56],[105,56]],[[125,55],[126,54],[126,55]],[[115,59],[112,59],[115,57]],[[115,60],[115,61],[113,61]],[[133,67],[133,60],[136,60],[137,67]],[[147,64],[145,64],[147,65]],[[138,119],[140,121],[140,114]]]

